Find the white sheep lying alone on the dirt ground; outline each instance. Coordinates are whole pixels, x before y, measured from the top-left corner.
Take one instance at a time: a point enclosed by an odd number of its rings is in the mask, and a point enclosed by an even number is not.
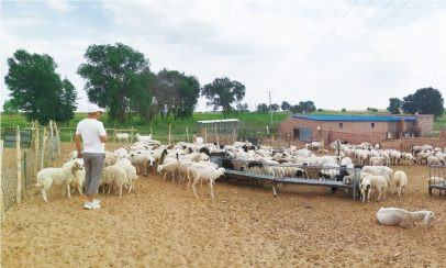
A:
[[[397,208],[381,208],[377,212],[378,223],[387,226],[412,227],[415,222],[423,220],[427,227],[432,227],[434,222],[432,211],[406,211]]]

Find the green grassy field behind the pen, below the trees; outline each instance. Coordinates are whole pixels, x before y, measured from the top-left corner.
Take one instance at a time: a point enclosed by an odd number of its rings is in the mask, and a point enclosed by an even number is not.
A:
[[[370,112],[370,111],[333,111],[333,110],[325,110],[315,112],[314,114],[356,114],[356,115],[382,115],[388,114],[384,111],[380,112]],[[239,123],[239,131],[246,130],[247,133],[255,133],[255,135],[261,136],[266,134],[266,126],[272,126],[275,129],[277,125],[280,124],[282,120],[289,116],[289,113],[286,112],[276,112],[272,114],[272,124],[271,124],[271,114],[270,113],[258,113],[258,112],[241,112],[241,113],[232,113],[226,116],[226,119],[238,119]],[[71,127],[62,130],[62,139],[63,141],[70,141],[70,135],[74,133],[74,129],[76,127],[77,123],[87,116],[86,113],[76,113],[75,118],[68,122],[63,124],[63,127]],[[200,120],[220,120],[224,119],[223,114],[220,112],[197,112],[193,113],[192,118],[189,119],[178,119],[174,120],[172,116],[168,119],[160,119],[159,116],[153,120],[150,123],[144,122],[138,116],[134,116],[127,122],[123,124],[114,123],[111,121],[107,113],[104,113],[101,118],[101,121],[104,122],[107,129],[131,129],[133,127],[135,132],[140,132],[141,134],[148,134],[152,133],[155,138],[167,141],[169,125],[171,127],[171,138],[172,141],[186,141],[186,127],[189,130],[190,137],[196,133],[197,129],[197,121]],[[31,123],[26,121],[23,114],[1,114],[1,127],[9,129],[19,125],[20,127],[30,127]],[[434,122],[434,130],[438,130],[439,127],[446,126],[446,115],[439,116]],[[238,133],[241,135],[241,133]]]

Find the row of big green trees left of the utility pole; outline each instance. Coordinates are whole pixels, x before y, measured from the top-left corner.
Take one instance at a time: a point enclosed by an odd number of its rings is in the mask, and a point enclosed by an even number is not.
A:
[[[245,86],[227,77],[200,86],[197,77],[178,70],[161,69],[154,74],[149,59],[132,47],[116,43],[90,45],[77,74],[86,80],[88,100],[104,108],[111,120],[124,122],[138,114],[146,122],[160,118],[191,116],[200,96],[214,110],[227,113],[247,109],[242,103]],[[21,110],[27,120],[47,123],[69,121],[77,108],[73,83],[56,72],[57,65],[47,54],[18,49],[8,58],[4,82],[12,99],[3,109]]]

